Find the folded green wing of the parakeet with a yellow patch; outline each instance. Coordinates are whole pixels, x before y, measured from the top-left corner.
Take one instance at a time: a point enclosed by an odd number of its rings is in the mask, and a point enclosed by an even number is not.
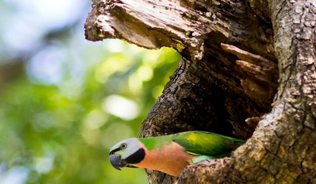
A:
[[[191,154],[212,157],[229,156],[234,147],[245,143],[244,140],[203,131],[174,134],[173,142],[178,143]]]

